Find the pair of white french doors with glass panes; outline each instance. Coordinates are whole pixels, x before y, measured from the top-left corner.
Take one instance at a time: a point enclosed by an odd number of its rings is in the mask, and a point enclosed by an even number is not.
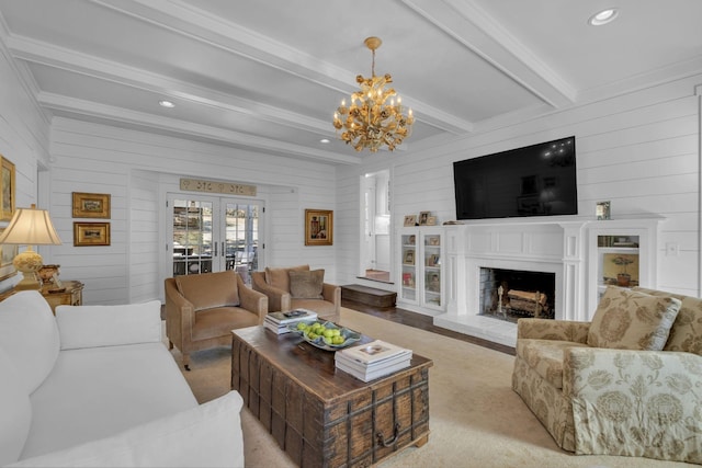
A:
[[[262,203],[169,194],[168,207],[173,276],[236,270],[249,283],[261,262]]]

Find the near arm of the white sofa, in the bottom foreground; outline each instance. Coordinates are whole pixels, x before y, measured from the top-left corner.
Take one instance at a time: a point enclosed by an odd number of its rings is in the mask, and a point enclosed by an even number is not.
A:
[[[223,397],[116,435],[24,459],[22,467],[242,467],[241,396]]]

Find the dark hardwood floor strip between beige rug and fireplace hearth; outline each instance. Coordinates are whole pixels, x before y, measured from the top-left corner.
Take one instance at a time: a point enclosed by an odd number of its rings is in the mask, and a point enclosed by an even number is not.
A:
[[[453,330],[448,330],[433,324],[432,317],[424,316],[422,313],[412,312],[410,310],[399,309],[397,307],[384,307],[377,308],[367,306],[365,304],[356,303],[349,299],[341,299],[341,306],[349,309],[358,310],[360,312],[369,313],[381,319],[389,320],[396,323],[403,323],[408,327],[415,327],[421,330],[430,331],[432,333],[441,334],[444,336],[453,338],[455,340],[467,341],[468,343],[477,344],[479,346],[489,347],[490,350],[499,351],[502,353],[514,355],[514,349],[506,346],[499,343],[492,343],[491,341],[483,340],[475,336],[469,336],[464,333],[458,333]]]

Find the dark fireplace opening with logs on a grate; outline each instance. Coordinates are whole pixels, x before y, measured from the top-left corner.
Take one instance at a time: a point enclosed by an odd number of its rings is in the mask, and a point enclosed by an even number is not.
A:
[[[555,273],[482,267],[479,315],[510,322],[553,319],[555,293]]]

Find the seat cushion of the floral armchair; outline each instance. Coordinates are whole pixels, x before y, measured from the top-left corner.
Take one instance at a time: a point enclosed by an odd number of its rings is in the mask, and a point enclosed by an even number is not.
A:
[[[588,347],[588,345],[559,340],[517,340],[517,355],[556,388],[563,388],[563,358],[564,351],[568,347]]]

